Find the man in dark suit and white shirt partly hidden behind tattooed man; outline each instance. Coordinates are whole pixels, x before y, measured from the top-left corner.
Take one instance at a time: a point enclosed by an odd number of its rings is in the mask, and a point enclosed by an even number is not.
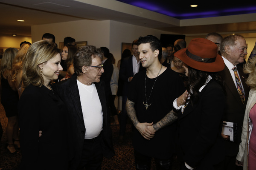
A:
[[[128,94],[128,88],[129,84],[134,77],[134,75],[143,70],[144,68],[142,67],[138,55],[138,40],[134,40],[132,42],[132,52],[133,55],[130,57],[126,57],[123,59],[121,66],[120,66],[120,71],[119,71],[119,79],[124,82],[123,84],[123,90],[122,90],[122,113],[120,114],[120,129],[119,129],[119,142],[123,142],[123,138],[125,135],[125,130],[126,130],[126,123],[127,123],[127,112],[125,109],[125,104],[127,100],[127,94]]]

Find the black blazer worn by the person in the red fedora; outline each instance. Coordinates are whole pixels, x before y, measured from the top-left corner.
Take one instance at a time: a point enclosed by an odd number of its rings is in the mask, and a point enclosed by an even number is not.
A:
[[[178,113],[178,145],[182,160],[197,170],[211,170],[224,159],[221,138],[224,92],[215,79],[199,92],[199,100]],[[184,167],[184,162],[182,164]]]

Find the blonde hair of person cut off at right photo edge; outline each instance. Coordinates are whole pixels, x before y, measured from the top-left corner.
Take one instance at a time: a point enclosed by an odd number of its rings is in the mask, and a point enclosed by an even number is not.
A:
[[[249,58],[244,65],[244,73],[249,74],[246,79],[246,84],[252,88],[256,87],[256,57]]]

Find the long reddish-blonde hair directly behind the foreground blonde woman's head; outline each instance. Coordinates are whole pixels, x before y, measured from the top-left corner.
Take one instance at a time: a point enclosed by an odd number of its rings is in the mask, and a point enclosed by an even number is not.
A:
[[[30,44],[28,44],[28,43],[22,44],[20,46],[19,51],[17,52],[17,55],[13,59],[13,62],[12,62],[12,81],[16,81],[17,74],[22,69],[22,60],[25,57],[29,46],[30,46]]]

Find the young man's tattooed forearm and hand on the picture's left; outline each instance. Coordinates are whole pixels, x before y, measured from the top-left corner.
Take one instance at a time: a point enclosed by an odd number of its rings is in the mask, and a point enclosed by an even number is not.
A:
[[[151,138],[154,137],[154,132],[148,129],[148,126],[152,126],[152,123],[140,123],[139,120],[137,119],[136,116],[136,111],[134,108],[134,102],[130,101],[129,99],[127,99],[126,102],[126,111],[127,114],[129,116],[129,118],[131,119],[131,122],[134,124],[134,127],[136,127],[136,129],[140,132],[140,134],[145,138],[150,140]]]

